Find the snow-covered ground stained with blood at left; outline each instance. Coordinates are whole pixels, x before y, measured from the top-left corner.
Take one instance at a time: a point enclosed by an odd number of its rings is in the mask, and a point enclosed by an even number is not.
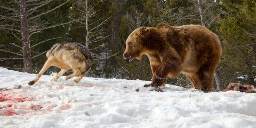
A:
[[[27,85],[35,76],[0,68],[0,128],[256,127],[256,93],[168,84],[155,92],[142,88],[150,81],[84,77],[75,83],[62,76],[52,82],[47,75]]]

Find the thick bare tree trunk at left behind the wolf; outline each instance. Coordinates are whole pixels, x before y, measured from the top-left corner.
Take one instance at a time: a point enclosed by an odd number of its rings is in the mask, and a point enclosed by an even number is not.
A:
[[[28,12],[25,0],[19,0],[20,2],[20,15],[21,15],[21,40],[23,48],[23,62],[24,72],[33,73],[32,69],[32,57],[29,42],[29,31],[28,31]]]

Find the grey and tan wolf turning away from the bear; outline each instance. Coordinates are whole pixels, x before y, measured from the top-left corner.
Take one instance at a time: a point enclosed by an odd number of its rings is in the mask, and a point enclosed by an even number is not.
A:
[[[80,75],[78,78],[73,80],[78,83],[85,75],[84,73],[90,70],[93,60],[92,54],[87,47],[79,43],[69,42],[57,43],[53,45],[52,48],[46,53],[46,57],[48,59],[43,68],[38,73],[36,78],[28,82],[28,85],[35,84],[50,66],[57,66],[61,69],[55,78],[52,79],[52,81],[57,81],[60,76],[71,69],[73,73],[66,76],[66,79]]]

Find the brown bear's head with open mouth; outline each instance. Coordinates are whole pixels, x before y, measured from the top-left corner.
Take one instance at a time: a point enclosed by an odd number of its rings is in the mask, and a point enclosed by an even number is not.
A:
[[[146,52],[145,36],[150,32],[149,28],[135,29],[126,40],[126,50],[123,53],[123,58],[129,58],[131,62],[133,59],[141,59],[141,56]]]

